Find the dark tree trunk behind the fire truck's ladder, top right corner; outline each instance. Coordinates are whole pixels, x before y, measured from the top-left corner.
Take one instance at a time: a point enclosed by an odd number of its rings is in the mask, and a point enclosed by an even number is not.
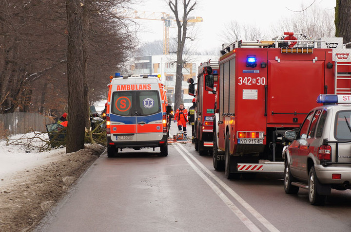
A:
[[[343,37],[344,43],[351,42],[351,0],[336,0],[335,36]]]

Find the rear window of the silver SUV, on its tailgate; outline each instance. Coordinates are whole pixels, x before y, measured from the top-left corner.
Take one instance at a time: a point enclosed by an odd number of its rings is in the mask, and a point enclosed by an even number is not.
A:
[[[334,137],[337,140],[351,140],[351,110],[339,111],[335,115]]]

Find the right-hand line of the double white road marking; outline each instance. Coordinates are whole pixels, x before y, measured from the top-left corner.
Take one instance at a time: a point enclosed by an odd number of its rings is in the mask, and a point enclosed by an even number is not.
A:
[[[210,170],[208,170],[200,161],[198,161],[191,153],[189,153],[189,151],[183,145],[181,145],[180,143],[176,143],[176,144],[180,146],[182,150],[186,152],[187,155],[190,158],[192,158],[197,163],[197,165],[199,165],[202,168],[202,170],[204,170],[211,178],[213,178],[219,185],[221,185],[231,196],[233,196],[235,200],[237,200],[248,212],[250,212],[250,214],[252,214],[259,222],[261,222],[263,226],[265,226],[271,232],[279,232],[279,230],[276,229],[266,218],[264,218],[261,214],[259,214],[251,205],[249,205],[243,198],[241,198],[237,193],[235,193],[233,189],[231,189],[226,183],[224,183],[221,179],[219,179],[215,174],[213,174]],[[184,157],[183,154],[182,156]],[[211,180],[209,179],[209,181]]]

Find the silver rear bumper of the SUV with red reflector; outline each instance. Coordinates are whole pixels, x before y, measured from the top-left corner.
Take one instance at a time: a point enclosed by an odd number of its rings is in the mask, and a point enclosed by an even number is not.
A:
[[[322,184],[342,184],[345,181],[351,182],[351,165],[323,166],[314,165],[319,182]],[[341,174],[340,179],[332,179],[332,174]]]

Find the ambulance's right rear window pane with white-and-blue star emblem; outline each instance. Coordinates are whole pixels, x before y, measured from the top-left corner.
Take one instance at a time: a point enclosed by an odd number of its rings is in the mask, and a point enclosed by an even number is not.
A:
[[[137,91],[140,116],[147,116],[161,111],[161,104],[157,90]]]

